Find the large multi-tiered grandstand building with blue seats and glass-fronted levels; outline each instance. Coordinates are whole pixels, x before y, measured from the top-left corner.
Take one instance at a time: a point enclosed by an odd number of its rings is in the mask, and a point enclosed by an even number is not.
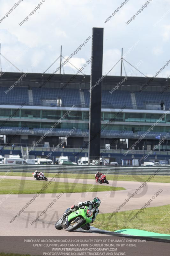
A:
[[[72,161],[87,156],[90,76],[24,74],[0,76],[1,154]],[[168,160],[169,79],[128,77],[119,84],[122,79],[105,76],[102,82],[101,155],[142,162],[152,150],[148,160]]]

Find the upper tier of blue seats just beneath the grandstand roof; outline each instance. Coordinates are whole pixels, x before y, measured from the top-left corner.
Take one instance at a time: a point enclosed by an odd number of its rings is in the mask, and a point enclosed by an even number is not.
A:
[[[10,87],[10,85],[9,85]],[[29,105],[28,88],[27,87],[14,87],[13,90],[5,93],[7,86],[0,87],[0,104],[20,105],[24,101],[25,105]],[[90,93],[84,90],[85,105],[81,104],[79,89],[64,89],[60,88],[33,88],[33,104],[34,106],[42,106],[42,100],[57,100],[59,97],[62,99],[62,107],[89,107]],[[102,108],[125,108],[132,109],[131,92],[118,91],[110,93],[108,90],[102,91]],[[138,109],[146,109],[146,103],[159,105],[161,101],[165,104],[165,109],[170,108],[170,92],[134,92]],[[56,106],[56,102],[48,102],[49,106]]]

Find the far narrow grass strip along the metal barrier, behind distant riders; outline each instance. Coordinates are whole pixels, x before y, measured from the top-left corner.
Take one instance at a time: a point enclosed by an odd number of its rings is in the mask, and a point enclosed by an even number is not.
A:
[[[4,175],[5,172],[0,172],[0,175]],[[48,173],[44,172],[46,177],[54,177],[55,173]],[[32,171],[31,172],[10,172],[9,176],[26,176],[26,177],[33,177]],[[7,176],[8,176],[7,175]],[[149,178],[150,175],[115,175],[115,174],[108,174],[107,180],[124,180],[124,181],[145,181]],[[58,178],[73,178],[73,179],[94,179],[94,174],[74,174],[74,173],[61,173]],[[150,182],[164,182],[170,183],[170,176],[163,176],[163,175],[155,175],[154,178],[151,179]]]

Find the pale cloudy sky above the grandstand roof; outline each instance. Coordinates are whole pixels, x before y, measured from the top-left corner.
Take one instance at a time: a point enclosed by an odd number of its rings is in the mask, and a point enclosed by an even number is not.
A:
[[[42,73],[60,56],[61,45],[62,55],[67,58],[92,36],[93,27],[100,27],[104,28],[103,75],[121,58],[123,47],[125,60],[144,75],[153,76],[170,60],[170,1],[126,1],[115,12],[123,0],[23,0],[18,5],[15,0],[0,0],[1,54],[21,71]],[[9,12],[14,5],[16,8]],[[91,57],[91,46],[90,39],[70,62],[81,68]],[[17,72],[2,56],[1,64],[3,71]],[[57,60],[47,73],[53,73],[59,65]],[[142,76],[128,63],[124,62],[124,66],[132,76]],[[83,72],[89,75],[90,69],[89,64]],[[77,70],[68,63],[64,72],[75,74]],[[120,75],[120,62],[109,75]],[[169,75],[170,63],[159,77]]]

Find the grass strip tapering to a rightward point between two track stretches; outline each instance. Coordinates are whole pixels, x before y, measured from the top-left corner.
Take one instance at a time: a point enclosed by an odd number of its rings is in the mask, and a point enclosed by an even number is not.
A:
[[[4,179],[1,181],[0,194],[8,194],[12,191],[12,194],[36,194],[39,192],[48,181],[30,181],[30,180],[9,180]],[[81,193],[81,192],[98,192],[98,191],[115,191],[124,190],[121,187],[109,187],[103,185],[89,185],[81,183],[62,183],[52,182],[42,191],[44,193]]]

